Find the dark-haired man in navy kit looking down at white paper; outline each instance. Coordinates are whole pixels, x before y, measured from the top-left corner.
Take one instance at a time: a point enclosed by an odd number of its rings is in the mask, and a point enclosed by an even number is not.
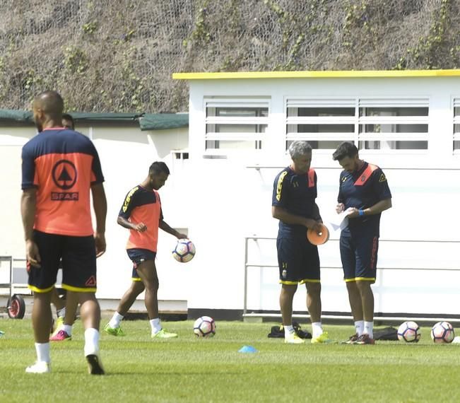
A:
[[[374,294],[382,211],[391,207],[387,177],[377,165],[361,160],[355,144],[343,142],[332,158],[343,168],[337,213],[348,211],[348,226],[341,231],[343,279],[355,321],[356,334],[347,344],[374,344]]]

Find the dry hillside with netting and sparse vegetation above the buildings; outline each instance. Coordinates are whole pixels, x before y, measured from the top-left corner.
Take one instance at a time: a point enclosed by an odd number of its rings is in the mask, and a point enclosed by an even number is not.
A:
[[[188,109],[178,71],[460,68],[458,0],[3,0],[0,108]]]

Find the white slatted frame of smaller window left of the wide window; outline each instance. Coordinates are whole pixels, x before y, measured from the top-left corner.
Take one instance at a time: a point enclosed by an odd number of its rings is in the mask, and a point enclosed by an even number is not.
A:
[[[267,108],[266,117],[225,117],[211,116],[208,117],[208,107],[241,107],[241,108]],[[205,115],[205,133],[203,149],[205,156],[227,156],[234,153],[258,153],[264,148],[264,142],[269,136],[269,120],[271,113],[271,97],[204,97],[204,115]],[[207,132],[208,124],[254,124],[266,126],[266,132]],[[261,148],[208,148],[206,141],[261,141]]]

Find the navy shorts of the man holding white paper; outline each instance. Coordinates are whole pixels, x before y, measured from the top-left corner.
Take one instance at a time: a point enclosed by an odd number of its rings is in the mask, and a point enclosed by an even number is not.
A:
[[[371,281],[377,276],[379,237],[367,235],[352,237],[341,234],[340,256],[345,281]]]

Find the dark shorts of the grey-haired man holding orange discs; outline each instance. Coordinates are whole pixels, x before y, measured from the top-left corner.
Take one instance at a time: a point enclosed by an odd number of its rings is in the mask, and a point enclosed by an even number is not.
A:
[[[318,247],[306,237],[278,238],[276,249],[281,284],[319,283]]]

